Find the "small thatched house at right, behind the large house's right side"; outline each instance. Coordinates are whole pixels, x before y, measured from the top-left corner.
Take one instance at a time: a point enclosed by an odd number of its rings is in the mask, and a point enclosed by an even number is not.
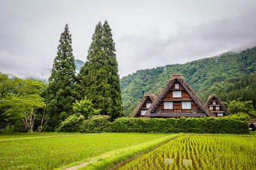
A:
[[[212,94],[209,96],[206,106],[215,114],[216,117],[224,117],[230,115],[230,111],[227,110],[227,107],[221,102],[221,99],[217,95]]]

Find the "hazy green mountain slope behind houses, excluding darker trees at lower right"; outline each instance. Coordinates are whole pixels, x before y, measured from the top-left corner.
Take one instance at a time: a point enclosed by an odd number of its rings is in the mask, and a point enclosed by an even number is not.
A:
[[[223,53],[182,65],[140,70],[120,80],[124,114],[129,116],[145,93],[157,96],[169,80],[170,74],[183,74],[184,80],[206,102],[209,94],[218,90],[209,90],[215,83],[221,83],[230,77],[245,77],[251,73],[256,73],[256,47],[241,53]]]

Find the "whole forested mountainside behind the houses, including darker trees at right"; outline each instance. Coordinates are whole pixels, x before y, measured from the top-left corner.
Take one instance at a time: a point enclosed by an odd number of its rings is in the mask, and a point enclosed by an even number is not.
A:
[[[253,101],[256,108],[256,47],[240,53],[219,56],[185,64],[166,65],[129,74],[120,80],[123,113],[130,116],[145,93],[158,95],[170,74],[183,74],[184,80],[206,102],[212,93],[224,102]]]

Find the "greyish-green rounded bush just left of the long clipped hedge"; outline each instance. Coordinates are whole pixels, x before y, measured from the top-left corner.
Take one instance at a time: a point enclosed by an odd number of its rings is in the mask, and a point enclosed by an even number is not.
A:
[[[79,132],[87,133],[102,133],[108,131],[108,123],[110,116],[108,115],[95,115],[90,117],[88,120],[84,120],[81,125]]]

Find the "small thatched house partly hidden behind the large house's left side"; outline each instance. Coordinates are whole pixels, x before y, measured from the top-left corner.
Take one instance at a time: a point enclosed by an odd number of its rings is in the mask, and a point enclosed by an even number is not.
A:
[[[147,112],[148,108],[151,106],[151,104],[154,102],[154,99],[157,97],[147,93],[144,95],[142,98],[142,101],[139,103],[137,106],[136,110],[133,112],[132,117],[143,117],[143,118],[148,118],[145,116],[145,113]]]

